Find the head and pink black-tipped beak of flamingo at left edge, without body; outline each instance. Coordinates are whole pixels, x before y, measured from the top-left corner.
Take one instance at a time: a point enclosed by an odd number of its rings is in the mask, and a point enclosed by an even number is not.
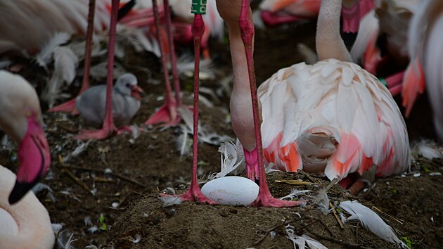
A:
[[[9,203],[18,202],[51,165],[43,131],[39,98],[34,88],[19,75],[0,71],[0,127],[18,143],[17,181]]]

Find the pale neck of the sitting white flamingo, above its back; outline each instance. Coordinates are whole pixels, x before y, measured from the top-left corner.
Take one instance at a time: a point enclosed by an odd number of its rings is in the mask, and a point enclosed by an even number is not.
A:
[[[319,60],[335,58],[352,62],[351,55],[340,36],[341,8],[342,0],[321,0],[316,31],[316,50]]]

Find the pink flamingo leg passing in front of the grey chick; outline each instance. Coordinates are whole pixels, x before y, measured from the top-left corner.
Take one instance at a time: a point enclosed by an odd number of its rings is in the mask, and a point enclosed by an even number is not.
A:
[[[117,131],[113,120],[113,69],[115,53],[115,26],[117,25],[119,1],[120,0],[113,0],[111,9],[108,43],[108,75],[106,76],[106,112],[103,127],[97,131],[84,130],[82,131],[82,134],[75,136],[75,139],[105,139]]]

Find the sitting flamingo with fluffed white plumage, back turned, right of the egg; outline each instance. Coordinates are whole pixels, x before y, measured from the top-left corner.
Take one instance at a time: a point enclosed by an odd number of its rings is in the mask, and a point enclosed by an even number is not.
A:
[[[258,94],[268,162],[289,172],[321,172],[358,191],[356,176],[387,177],[408,170],[411,151],[390,92],[351,63],[340,38],[341,4],[321,1],[316,31],[321,61],[279,70]]]

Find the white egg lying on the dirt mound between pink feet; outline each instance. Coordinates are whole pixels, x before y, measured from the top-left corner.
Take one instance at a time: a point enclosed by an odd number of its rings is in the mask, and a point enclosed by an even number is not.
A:
[[[258,192],[259,186],[245,177],[221,177],[202,187],[204,196],[223,205],[250,205]]]

